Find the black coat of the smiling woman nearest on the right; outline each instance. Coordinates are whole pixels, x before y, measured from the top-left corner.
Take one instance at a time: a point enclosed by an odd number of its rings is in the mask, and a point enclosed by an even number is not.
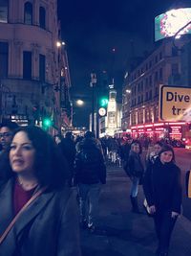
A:
[[[180,168],[173,162],[162,164],[157,158],[154,165],[146,170],[143,190],[148,205],[155,205],[157,211],[180,213]]]

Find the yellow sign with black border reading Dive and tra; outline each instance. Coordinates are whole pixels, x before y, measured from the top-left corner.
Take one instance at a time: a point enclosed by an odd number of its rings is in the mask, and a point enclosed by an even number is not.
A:
[[[191,88],[160,85],[159,120],[191,121]]]

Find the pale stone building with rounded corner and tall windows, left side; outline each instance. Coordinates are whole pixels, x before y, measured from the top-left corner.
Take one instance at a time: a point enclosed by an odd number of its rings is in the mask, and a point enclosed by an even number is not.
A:
[[[61,127],[61,51],[56,0],[0,2],[1,119]],[[58,89],[57,89],[58,88]]]

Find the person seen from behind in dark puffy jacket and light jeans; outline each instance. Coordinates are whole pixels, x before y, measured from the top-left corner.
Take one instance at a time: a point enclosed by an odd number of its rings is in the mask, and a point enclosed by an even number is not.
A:
[[[100,144],[91,131],[87,131],[80,142],[74,161],[74,176],[78,187],[81,226],[94,232],[101,184],[106,183],[106,166]]]

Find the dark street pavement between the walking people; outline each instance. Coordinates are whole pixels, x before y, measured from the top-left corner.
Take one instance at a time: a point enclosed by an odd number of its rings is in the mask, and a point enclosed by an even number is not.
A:
[[[131,212],[130,180],[118,167],[109,167],[99,200],[96,233],[81,230],[82,256],[154,256],[157,237],[152,218]],[[191,203],[191,201],[190,201]],[[169,256],[191,256],[191,221],[181,216],[173,231]]]

